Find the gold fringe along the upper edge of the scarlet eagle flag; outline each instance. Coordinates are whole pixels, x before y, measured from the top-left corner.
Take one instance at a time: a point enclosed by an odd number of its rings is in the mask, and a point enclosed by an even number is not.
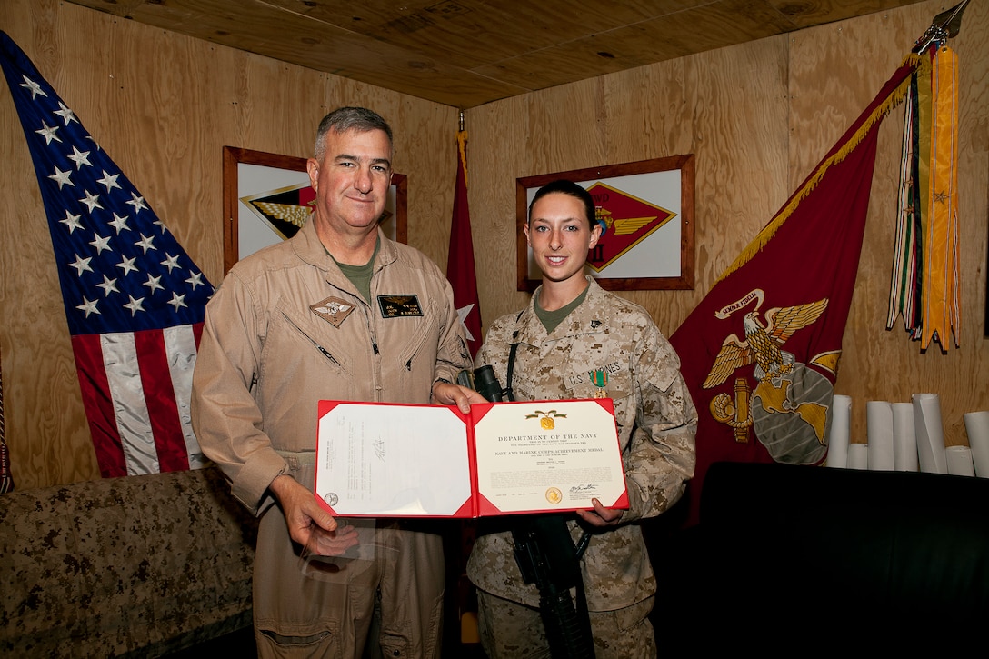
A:
[[[930,57],[922,56],[920,54],[917,54],[916,52],[911,52],[904,58],[903,63],[900,64],[900,66],[903,66],[904,64],[909,64],[911,68],[917,70],[925,66],[930,67],[931,59]],[[817,169],[814,171],[813,175],[811,175],[810,177],[807,178],[806,181],[804,181],[804,184],[800,188],[800,190],[790,198],[789,202],[783,208],[779,209],[779,212],[777,212],[776,215],[772,218],[772,220],[770,220],[769,223],[765,225],[763,231],[761,231],[759,235],[757,235],[752,240],[752,242],[750,242],[748,246],[746,246],[746,248],[742,250],[742,253],[740,253],[735,258],[735,261],[730,266],[728,266],[728,268],[721,274],[720,277],[718,277],[718,281],[721,281],[726,277],[728,277],[730,274],[732,274],[733,272],[741,268],[743,265],[748,263],[756,254],[762,251],[763,247],[769,241],[769,239],[772,238],[772,236],[776,234],[779,228],[783,226],[783,223],[785,223],[789,219],[789,217],[793,215],[793,211],[795,211],[797,206],[800,205],[800,202],[806,199],[810,195],[810,193],[813,192],[813,190],[818,186],[818,184],[821,182],[821,179],[824,178],[824,174],[828,171],[828,169],[832,165],[838,164],[839,162],[844,160],[849,155],[849,153],[854,151],[855,147],[858,146],[858,144],[865,139],[865,136],[868,135],[869,131],[872,130],[872,127],[875,126],[878,122],[882,121],[883,118],[887,114],[889,114],[889,112],[893,108],[895,108],[896,106],[898,106],[900,103],[903,102],[903,99],[906,98],[907,90],[909,88],[910,88],[910,76],[907,76],[903,79],[903,81],[899,85],[896,86],[895,89],[893,89],[893,91],[889,93],[889,96],[883,99],[883,101],[878,106],[875,107],[875,109],[868,116],[865,122],[862,123],[862,125],[858,128],[857,131],[855,131],[854,135],[849,139],[849,141],[846,141],[845,144],[840,149],[838,149],[838,151],[833,153],[830,157],[825,158],[820,163],[818,163]]]

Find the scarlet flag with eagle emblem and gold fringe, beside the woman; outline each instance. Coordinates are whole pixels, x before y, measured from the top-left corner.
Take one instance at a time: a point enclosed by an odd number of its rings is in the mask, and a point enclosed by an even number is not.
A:
[[[919,61],[894,73],[671,337],[700,415],[687,523],[713,462],[827,455],[879,124]]]

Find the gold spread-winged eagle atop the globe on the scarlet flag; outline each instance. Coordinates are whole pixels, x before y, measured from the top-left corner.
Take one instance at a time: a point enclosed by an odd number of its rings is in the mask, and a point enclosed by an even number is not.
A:
[[[724,340],[721,351],[704,380],[703,388],[717,387],[736,369],[753,362],[768,377],[778,377],[788,372],[792,365],[786,363],[779,346],[797,329],[814,323],[827,308],[827,298],[794,307],[776,307],[765,313],[766,325],[759,321],[759,310],[749,312],[744,321],[745,340],[740,340],[736,334],[731,334]]]

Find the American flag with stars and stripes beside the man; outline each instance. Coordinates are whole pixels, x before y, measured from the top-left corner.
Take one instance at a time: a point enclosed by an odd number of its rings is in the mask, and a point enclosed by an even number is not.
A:
[[[201,467],[189,399],[213,285],[5,33],[104,477]]]

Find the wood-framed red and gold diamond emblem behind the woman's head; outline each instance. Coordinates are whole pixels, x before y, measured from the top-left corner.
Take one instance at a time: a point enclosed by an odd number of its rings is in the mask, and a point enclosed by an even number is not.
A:
[[[594,196],[596,220],[606,227],[586,268],[601,288],[693,289],[694,156],[688,153],[515,179],[517,290],[534,291],[541,278],[522,233],[529,203],[559,178]]]

